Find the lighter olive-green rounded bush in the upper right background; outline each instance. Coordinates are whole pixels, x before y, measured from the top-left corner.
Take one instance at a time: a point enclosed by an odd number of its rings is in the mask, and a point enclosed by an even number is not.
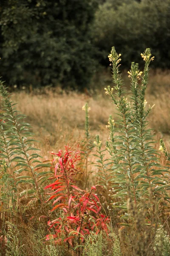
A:
[[[121,3],[118,6],[114,0],[108,0],[99,6],[94,25],[96,47],[108,52],[115,45],[122,52],[122,63],[126,66],[131,59],[138,62],[136,56],[141,49],[150,47],[156,56],[154,67],[169,68],[170,0]],[[108,63],[106,58],[105,61]]]

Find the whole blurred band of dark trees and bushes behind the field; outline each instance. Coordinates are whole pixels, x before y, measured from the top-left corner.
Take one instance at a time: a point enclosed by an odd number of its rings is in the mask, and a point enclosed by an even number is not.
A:
[[[0,75],[10,87],[89,88],[112,46],[122,69],[142,68],[147,47],[152,67],[169,69],[169,43],[170,0],[0,1]]]

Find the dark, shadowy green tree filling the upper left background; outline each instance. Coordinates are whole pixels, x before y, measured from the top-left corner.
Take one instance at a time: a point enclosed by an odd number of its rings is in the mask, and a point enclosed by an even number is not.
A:
[[[87,87],[96,7],[96,0],[1,0],[1,74],[8,84]]]

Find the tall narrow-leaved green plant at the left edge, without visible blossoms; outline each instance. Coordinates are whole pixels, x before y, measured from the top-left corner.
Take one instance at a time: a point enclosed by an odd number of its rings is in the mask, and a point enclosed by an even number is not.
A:
[[[2,97],[2,113],[0,119],[0,163],[6,161],[7,172],[14,179],[14,192],[20,195],[37,193],[41,200],[40,183],[43,182],[48,172],[37,172],[42,167],[49,167],[43,164],[37,154],[38,149],[34,148],[37,142],[29,130],[31,126],[24,122],[26,116],[17,111],[16,103],[11,101],[11,96],[0,81],[0,96]],[[22,173],[25,172],[24,175]],[[23,191],[21,183],[31,189]]]

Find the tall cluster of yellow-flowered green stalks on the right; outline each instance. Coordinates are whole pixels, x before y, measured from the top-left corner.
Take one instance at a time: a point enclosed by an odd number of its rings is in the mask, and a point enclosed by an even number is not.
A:
[[[130,98],[124,88],[119,71],[121,54],[112,47],[108,56],[111,61],[113,83],[112,88],[105,88],[117,109],[117,118],[109,117],[107,127],[110,130],[110,140],[106,148],[111,155],[111,174],[113,183],[113,198],[119,198],[113,207],[127,208],[127,194],[133,199],[136,208],[141,208],[142,200],[150,201],[154,198],[170,199],[169,170],[164,169],[157,158],[157,151],[153,146],[155,140],[151,129],[148,128],[147,116],[152,107],[147,108],[145,92],[149,76],[149,64],[153,61],[150,49],[141,54],[144,60],[143,72],[138,64],[132,62],[128,71],[130,78]],[[129,95],[129,94],[128,94]],[[163,176],[164,173],[164,176]],[[152,199],[151,199],[152,198]],[[151,200],[150,200],[151,199]],[[149,205],[148,205],[149,207]]]

